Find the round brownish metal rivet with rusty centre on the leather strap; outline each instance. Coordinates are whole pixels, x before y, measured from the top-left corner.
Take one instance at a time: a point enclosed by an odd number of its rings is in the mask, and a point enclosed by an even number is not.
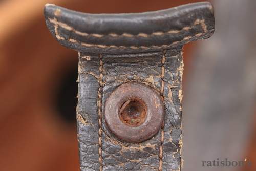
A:
[[[164,120],[161,96],[139,82],[124,83],[106,100],[106,125],[119,139],[139,143],[153,137]]]

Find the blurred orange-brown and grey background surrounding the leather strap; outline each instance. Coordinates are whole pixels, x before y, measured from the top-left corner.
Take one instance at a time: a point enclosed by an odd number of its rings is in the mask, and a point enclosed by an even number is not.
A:
[[[0,1],[0,170],[79,170],[78,55],[46,28],[46,3],[123,13],[192,2],[199,1]],[[184,47],[183,170],[255,170],[256,1],[211,2],[214,36]],[[202,167],[217,158],[252,165]]]

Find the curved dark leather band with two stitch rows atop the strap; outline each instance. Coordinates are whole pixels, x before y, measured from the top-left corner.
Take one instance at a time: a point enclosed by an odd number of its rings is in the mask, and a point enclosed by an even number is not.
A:
[[[47,5],[45,16],[54,37],[79,52],[159,51],[214,32],[214,12],[208,2],[137,14],[86,14]]]

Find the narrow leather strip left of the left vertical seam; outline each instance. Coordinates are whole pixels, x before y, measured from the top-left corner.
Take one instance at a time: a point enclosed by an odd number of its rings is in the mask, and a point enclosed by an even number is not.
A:
[[[99,170],[99,125],[98,125],[98,65],[97,55],[79,55],[77,130],[80,155],[80,170]]]

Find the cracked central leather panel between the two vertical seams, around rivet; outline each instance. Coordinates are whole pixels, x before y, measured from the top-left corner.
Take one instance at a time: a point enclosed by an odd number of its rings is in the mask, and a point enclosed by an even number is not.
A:
[[[137,81],[160,92],[161,52],[103,56],[103,108],[105,100],[120,84]],[[150,97],[150,95],[149,95]],[[118,140],[102,120],[103,170],[158,170],[161,132],[142,143]]]

